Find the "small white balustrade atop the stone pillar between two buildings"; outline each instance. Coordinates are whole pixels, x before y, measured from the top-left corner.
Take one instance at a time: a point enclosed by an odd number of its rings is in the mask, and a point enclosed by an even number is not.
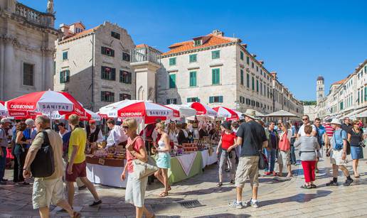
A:
[[[161,65],[161,53],[149,46],[131,50],[131,58],[131,62],[149,61],[154,62],[157,65]]]

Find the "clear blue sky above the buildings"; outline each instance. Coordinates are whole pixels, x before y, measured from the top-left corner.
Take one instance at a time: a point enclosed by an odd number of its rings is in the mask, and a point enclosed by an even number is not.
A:
[[[20,0],[46,11],[46,0]],[[367,59],[367,1],[90,1],[55,0],[56,25],[104,21],[126,28],[135,44],[161,51],[219,29],[241,38],[297,99],[316,99]]]

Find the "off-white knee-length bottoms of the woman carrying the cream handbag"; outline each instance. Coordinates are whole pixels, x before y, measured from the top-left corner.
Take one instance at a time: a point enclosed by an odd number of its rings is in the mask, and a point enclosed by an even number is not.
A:
[[[145,200],[145,190],[147,189],[148,177],[140,180],[132,177],[129,174],[127,177],[127,185],[125,192],[125,202],[134,205],[135,207],[143,207]]]

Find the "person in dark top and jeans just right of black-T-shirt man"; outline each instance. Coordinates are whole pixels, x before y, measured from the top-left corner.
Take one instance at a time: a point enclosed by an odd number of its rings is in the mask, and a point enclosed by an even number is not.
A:
[[[269,161],[269,168],[265,169],[265,175],[273,174],[274,176],[277,175],[275,173],[275,158],[277,157],[277,149],[279,143],[278,133],[275,130],[275,122],[270,121],[269,127],[266,129],[266,136],[267,136],[267,148],[265,149],[265,154],[267,156],[267,160]]]

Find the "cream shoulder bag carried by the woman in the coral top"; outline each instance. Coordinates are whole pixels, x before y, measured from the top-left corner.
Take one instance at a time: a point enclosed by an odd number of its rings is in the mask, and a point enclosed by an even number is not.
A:
[[[142,137],[137,136],[136,138],[134,138],[134,141],[132,141],[132,144],[135,143],[137,138],[142,138]],[[158,168],[156,167],[156,162],[154,161],[153,158],[151,158],[151,156],[148,156],[147,162],[144,162],[139,159],[134,159],[132,160],[132,165],[134,169],[134,172],[132,173],[132,177],[138,180],[145,178],[149,175],[152,175],[153,173],[155,173],[158,170]]]

